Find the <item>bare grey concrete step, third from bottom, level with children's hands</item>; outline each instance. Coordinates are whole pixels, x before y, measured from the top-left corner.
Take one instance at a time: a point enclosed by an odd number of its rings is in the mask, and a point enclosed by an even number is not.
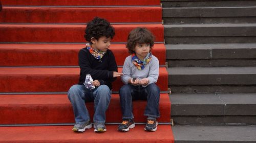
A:
[[[173,93],[256,92],[256,67],[169,67]]]

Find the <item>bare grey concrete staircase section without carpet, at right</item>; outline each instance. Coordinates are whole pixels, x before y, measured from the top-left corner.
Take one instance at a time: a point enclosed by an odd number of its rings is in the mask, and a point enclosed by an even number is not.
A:
[[[256,142],[256,1],[161,3],[175,142]]]

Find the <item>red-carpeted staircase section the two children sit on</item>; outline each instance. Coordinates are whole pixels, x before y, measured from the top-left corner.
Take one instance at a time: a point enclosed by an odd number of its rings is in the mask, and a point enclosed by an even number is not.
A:
[[[41,1],[2,0],[0,12],[0,142],[174,142],[170,128],[168,73],[160,1]],[[68,89],[78,83],[78,51],[85,45],[86,23],[95,16],[115,28],[112,40],[118,71],[129,56],[125,42],[136,27],[156,36],[153,54],[159,59],[161,89],[159,126],[144,131],[146,101],[135,101],[136,127],[117,131],[121,122],[118,78],[106,111],[105,133],[72,131],[74,114]],[[87,108],[93,116],[94,105]]]

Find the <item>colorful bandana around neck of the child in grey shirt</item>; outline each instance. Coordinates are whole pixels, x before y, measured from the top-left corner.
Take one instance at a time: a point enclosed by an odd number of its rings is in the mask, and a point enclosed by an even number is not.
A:
[[[133,64],[140,70],[144,69],[146,64],[148,64],[152,59],[152,54],[148,53],[143,61],[141,61],[135,54],[132,55]]]

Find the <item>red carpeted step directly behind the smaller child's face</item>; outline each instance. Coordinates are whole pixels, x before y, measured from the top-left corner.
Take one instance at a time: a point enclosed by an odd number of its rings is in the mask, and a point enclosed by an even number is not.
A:
[[[76,66],[77,55],[85,44],[0,44],[0,66]],[[117,65],[129,53],[125,44],[111,44]],[[165,46],[155,44],[152,50],[160,65],[165,65]],[[67,58],[68,57],[68,58]]]

